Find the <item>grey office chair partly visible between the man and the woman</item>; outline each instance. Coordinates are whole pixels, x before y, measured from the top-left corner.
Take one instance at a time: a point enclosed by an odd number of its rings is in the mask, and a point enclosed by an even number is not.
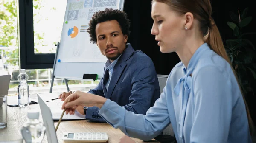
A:
[[[168,75],[157,75],[157,78],[158,78],[160,94],[161,94],[163,92],[163,88],[166,85],[166,80],[168,78]],[[156,139],[160,143],[175,143],[176,139],[172,129],[172,124],[169,124],[169,126],[167,126],[166,129],[163,130],[163,134],[158,135],[154,139]]]

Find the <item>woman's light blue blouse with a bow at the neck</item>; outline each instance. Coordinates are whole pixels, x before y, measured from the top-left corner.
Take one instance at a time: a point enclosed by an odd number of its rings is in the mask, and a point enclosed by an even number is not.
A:
[[[107,99],[99,115],[130,137],[151,140],[170,123],[178,143],[252,143],[245,104],[236,77],[207,43],[186,68],[171,71],[166,87],[146,115]]]

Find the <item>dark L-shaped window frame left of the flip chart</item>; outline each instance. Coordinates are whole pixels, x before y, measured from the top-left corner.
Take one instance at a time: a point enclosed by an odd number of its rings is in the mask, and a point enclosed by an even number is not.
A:
[[[17,0],[18,41],[21,69],[53,67],[55,53],[34,52],[33,0]]]

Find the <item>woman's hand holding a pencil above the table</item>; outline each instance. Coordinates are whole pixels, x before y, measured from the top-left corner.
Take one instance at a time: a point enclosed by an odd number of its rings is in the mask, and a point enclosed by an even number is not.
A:
[[[79,105],[87,107],[97,106],[101,108],[106,100],[106,98],[99,95],[76,91],[66,97],[61,109],[67,108],[66,114],[69,113],[70,115],[73,115],[75,114],[76,107],[78,107]]]

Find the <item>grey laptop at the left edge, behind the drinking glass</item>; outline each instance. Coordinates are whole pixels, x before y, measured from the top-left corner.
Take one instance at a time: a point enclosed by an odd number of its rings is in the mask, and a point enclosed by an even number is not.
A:
[[[10,80],[11,75],[0,76],[0,95],[8,94]]]

